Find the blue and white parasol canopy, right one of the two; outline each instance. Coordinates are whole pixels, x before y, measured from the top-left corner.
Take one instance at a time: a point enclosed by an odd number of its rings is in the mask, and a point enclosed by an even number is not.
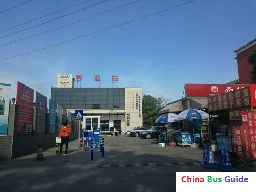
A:
[[[177,119],[185,120],[185,119],[208,119],[209,114],[205,113],[202,110],[189,109],[185,110],[177,115]]]

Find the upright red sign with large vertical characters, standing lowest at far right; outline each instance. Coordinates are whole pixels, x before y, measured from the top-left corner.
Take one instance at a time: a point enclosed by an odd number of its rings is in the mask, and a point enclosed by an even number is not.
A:
[[[246,126],[234,126],[237,160],[251,160],[249,129]]]

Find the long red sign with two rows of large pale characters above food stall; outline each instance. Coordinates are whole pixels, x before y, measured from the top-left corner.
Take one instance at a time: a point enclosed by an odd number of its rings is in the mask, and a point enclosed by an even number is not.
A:
[[[208,111],[221,111],[256,106],[256,84],[221,95],[208,97]]]

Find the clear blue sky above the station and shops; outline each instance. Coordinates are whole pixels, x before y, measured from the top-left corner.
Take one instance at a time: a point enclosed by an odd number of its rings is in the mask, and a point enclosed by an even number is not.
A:
[[[142,87],[143,94],[171,102],[182,98],[185,83],[238,79],[233,51],[256,38],[256,0],[25,2],[0,1],[0,76],[11,79],[11,98],[17,81],[50,98],[57,74],[81,74],[82,87],[94,87],[94,75],[101,88],[112,87],[117,75],[118,87]]]

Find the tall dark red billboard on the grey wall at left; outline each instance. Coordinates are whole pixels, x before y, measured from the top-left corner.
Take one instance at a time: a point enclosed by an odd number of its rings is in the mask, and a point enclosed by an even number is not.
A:
[[[18,127],[17,134],[32,134],[34,90],[17,83]]]

